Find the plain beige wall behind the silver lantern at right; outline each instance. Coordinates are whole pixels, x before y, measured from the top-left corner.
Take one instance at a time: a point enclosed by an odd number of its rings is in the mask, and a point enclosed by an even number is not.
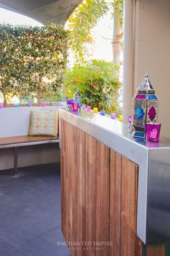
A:
[[[148,70],[159,98],[161,135],[170,137],[170,1],[135,1],[135,61],[133,90]]]

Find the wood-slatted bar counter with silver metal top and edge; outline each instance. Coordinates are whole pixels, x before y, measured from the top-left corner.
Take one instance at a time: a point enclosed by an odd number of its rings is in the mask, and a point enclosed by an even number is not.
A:
[[[170,143],[60,109],[61,222],[71,256],[169,256]]]

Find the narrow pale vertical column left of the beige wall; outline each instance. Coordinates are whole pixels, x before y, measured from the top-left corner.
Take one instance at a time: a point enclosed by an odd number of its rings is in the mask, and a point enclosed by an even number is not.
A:
[[[124,1],[124,45],[123,45],[123,121],[132,114],[133,100],[133,0]]]

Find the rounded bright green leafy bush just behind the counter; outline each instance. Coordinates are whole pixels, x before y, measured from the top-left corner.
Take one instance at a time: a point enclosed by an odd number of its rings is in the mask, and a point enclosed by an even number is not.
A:
[[[68,70],[63,80],[63,90],[73,98],[76,88],[82,96],[82,103],[98,107],[99,110],[119,112],[117,98],[120,82],[118,66],[101,60],[84,61]]]

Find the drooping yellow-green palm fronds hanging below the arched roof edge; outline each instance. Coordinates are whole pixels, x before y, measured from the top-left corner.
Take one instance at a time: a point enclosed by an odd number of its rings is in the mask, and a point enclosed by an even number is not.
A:
[[[84,59],[86,47],[84,43],[90,43],[91,29],[97,25],[100,17],[108,10],[104,0],[84,0],[68,19],[68,28],[71,35],[71,48],[76,59]]]

